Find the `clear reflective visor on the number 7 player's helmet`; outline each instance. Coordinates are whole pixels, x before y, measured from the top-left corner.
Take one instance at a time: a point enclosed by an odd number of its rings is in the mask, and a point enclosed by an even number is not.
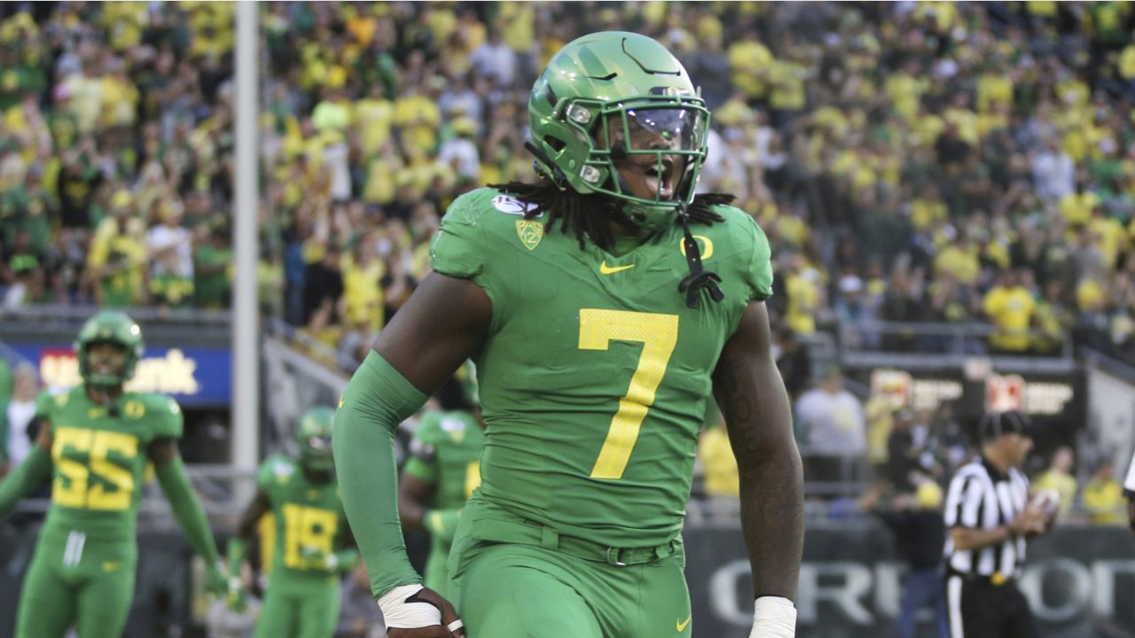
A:
[[[705,117],[695,109],[627,109],[607,120],[611,148],[634,151],[692,151],[705,141]]]

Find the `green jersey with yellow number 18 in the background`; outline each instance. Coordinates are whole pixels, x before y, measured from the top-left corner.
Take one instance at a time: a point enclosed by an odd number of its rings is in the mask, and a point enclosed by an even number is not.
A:
[[[305,555],[335,553],[346,529],[334,477],[326,482],[311,481],[300,462],[287,456],[269,456],[260,467],[257,486],[268,495],[276,521],[272,578],[285,574],[338,581],[337,573],[328,574],[321,566],[309,564]]]

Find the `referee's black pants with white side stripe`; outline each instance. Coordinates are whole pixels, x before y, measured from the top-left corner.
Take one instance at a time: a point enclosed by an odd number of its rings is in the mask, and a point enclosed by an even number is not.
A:
[[[950,638],[1036,638],[1036,623],[1012,579],[994,585],[989,578],[951,573],[945,578]]]

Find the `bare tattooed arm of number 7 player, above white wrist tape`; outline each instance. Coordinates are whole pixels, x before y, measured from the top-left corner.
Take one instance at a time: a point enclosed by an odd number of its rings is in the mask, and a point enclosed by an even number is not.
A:
[[[750,302],[713,376],[741,478],[741,529],[756,596],[796,599],[804,552],[804,470],[768,312]]]

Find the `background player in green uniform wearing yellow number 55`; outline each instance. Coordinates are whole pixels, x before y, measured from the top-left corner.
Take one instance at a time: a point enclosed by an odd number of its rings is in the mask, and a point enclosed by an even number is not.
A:
[[[143,352],[142,330],[121,312],[99,312],[75,342],[83,384],[43,393],[31,454],[0,482],[0,517],[52,478],[51,509],[24,578],[18,638],[121,636],[137,566],[138,500],[152,462],[190,544],[225,591],[209,521],[177,451],[183,417],[173,398],[126,392]]]

